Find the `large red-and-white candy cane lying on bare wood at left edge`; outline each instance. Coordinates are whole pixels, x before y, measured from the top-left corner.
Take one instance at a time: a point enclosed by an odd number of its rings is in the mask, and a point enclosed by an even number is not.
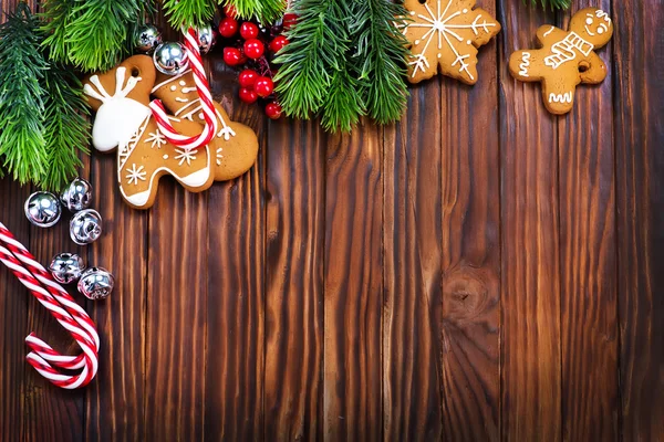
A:
[[[0,262],[7,265],[19,281],[76,340],[82,355],[63,356],[31,333],[25,344],[32,351],[28,362],[58,387],[75,389],[94,378],[98,369],[100,338],[90,316],[60,286],[34,256],[0,223]],[[55,369],[82,369],[79,375],[63,375]]]

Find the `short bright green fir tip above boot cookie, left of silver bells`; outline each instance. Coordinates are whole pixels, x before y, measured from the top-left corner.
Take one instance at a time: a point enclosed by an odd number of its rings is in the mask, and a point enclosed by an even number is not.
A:
[[[55,0],[68,1],[68,0]],[[143,11],[141,0],[75,0],[66,27],[69,61],[82,71],[106,71],[124,55],[129,23]]]

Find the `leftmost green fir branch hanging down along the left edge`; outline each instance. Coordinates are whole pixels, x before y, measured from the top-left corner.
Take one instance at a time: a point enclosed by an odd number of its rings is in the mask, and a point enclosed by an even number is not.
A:
[[[44,91],[48,64],[39,51],[39,23],[23,2],[0,25],[0,157],[20,183],[45,171]]]

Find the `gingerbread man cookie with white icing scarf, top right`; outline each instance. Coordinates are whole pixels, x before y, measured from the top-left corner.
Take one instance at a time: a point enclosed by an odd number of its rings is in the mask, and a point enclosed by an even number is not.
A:
[[[606,65],[594,50],[613,35],[609,14],[595,8],[578,11],[569,29],[541,27],[537,39],[542,48],[517,51],[509,59],[512,76],[521,82],[541,82],[544,106],[559,115],[572,109],[579,83],[598,84],[606,77]]]

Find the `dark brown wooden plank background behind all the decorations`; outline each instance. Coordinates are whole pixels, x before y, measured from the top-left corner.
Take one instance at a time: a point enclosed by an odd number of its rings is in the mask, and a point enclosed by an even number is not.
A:
[[[351,135],[269,122],[208,56],[258,164],[141,212],[94,155],[92,246],[30,227],[33,189],[1,180],[0,220],[43,262],[79,250],[117,288],[79,296],[101,368],[61,391],[23,338],[75,347],[0,270],[0,440],[664,441],[662,3],[573,1],[616,32],[564,117],[507,60],[569,13],[479,3],[504,31],[478,84],[437,77],[402,123]]]

